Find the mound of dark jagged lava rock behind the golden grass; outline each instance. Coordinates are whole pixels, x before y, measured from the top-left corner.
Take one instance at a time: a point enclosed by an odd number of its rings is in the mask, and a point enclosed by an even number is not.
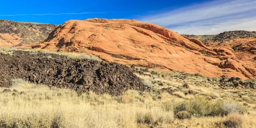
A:
[[[11,86],[11,79],[24,79],[36,84],[71,88],[79,93],[93,91],[115,96],[128,89],[148,89],[129,67],[117,63],[14,51],[13,55],[0,53],[0,65],[2,87]]]

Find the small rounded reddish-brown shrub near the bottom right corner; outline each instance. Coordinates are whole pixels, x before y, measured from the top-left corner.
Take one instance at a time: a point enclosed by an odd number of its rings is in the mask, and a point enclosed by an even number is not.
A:
[[[230,114],[227,121],[224,122],[228,128],[242,128],[242,123],[244,122],[244,117],[239,113]]]

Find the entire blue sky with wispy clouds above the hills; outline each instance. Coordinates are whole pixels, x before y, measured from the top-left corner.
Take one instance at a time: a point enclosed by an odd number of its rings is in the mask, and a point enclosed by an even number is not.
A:
[[[256,31],[256,0],[7,0],[0,19],[61,24],[87,18],[154,23],[181,34]]]

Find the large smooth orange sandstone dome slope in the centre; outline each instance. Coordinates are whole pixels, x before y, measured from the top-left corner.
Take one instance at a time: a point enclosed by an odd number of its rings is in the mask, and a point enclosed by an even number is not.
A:
[[[241,60],[232,49],[208,48],[196,39],[137,20],[69,20],[32,48],[84,52],[103,61],[200,73],[209,77],[255,78],[255,61]],[[201,53],[200,53],[201,52]],[[256,55],[248,56],[251,60]]]

